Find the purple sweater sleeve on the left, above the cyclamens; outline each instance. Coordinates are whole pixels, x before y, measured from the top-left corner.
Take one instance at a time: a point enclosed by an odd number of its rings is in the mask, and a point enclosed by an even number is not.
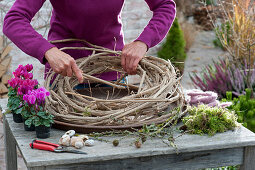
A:
[[[30,22],[45,0],[16,0],[6,14],[3,33],[26,54],[45,64],[44,55],[54,47],[37,33]]]

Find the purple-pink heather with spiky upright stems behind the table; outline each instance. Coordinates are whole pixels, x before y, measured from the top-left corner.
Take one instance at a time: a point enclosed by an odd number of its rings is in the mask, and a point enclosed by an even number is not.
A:
[[[212,65],[208,65],[199,73],[193,73],[190,78],[194,85],[203,91],[214,91],[219,98],[226,97],[227,91],[232,91],[233,95],[244,94],[245,89],[251,87],[255,89],[255,70],[248,70],[248,64],[230,64],[226,60],[219,60]]]

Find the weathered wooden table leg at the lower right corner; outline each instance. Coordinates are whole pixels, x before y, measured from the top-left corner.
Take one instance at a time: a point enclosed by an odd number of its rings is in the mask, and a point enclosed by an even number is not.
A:
[[[244,150],[244,161],[240,170],[254,170],[255,169],[255,147],[246,147]]]

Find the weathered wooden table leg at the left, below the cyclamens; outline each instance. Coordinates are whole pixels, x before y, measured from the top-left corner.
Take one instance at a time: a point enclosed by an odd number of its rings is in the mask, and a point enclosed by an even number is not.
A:
[[[16,143],[4,116],[5,162],[7,170],[17,170]]]

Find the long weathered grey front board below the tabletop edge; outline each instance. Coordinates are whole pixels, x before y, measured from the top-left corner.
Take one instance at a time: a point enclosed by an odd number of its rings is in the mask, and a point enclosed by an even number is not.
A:
[[[201,169],[209,167],[220,167],[227,165],[238,165],[243,161],[243,148],[215,150],[196,153],[182,153],[179,155],[151,156],[133,159],[120,159],[112,161],[91,162],[83,164],[48,166],[46,170],[68,170],[68,169],[86,169],[86,170],[112,170],[112,169]]]

